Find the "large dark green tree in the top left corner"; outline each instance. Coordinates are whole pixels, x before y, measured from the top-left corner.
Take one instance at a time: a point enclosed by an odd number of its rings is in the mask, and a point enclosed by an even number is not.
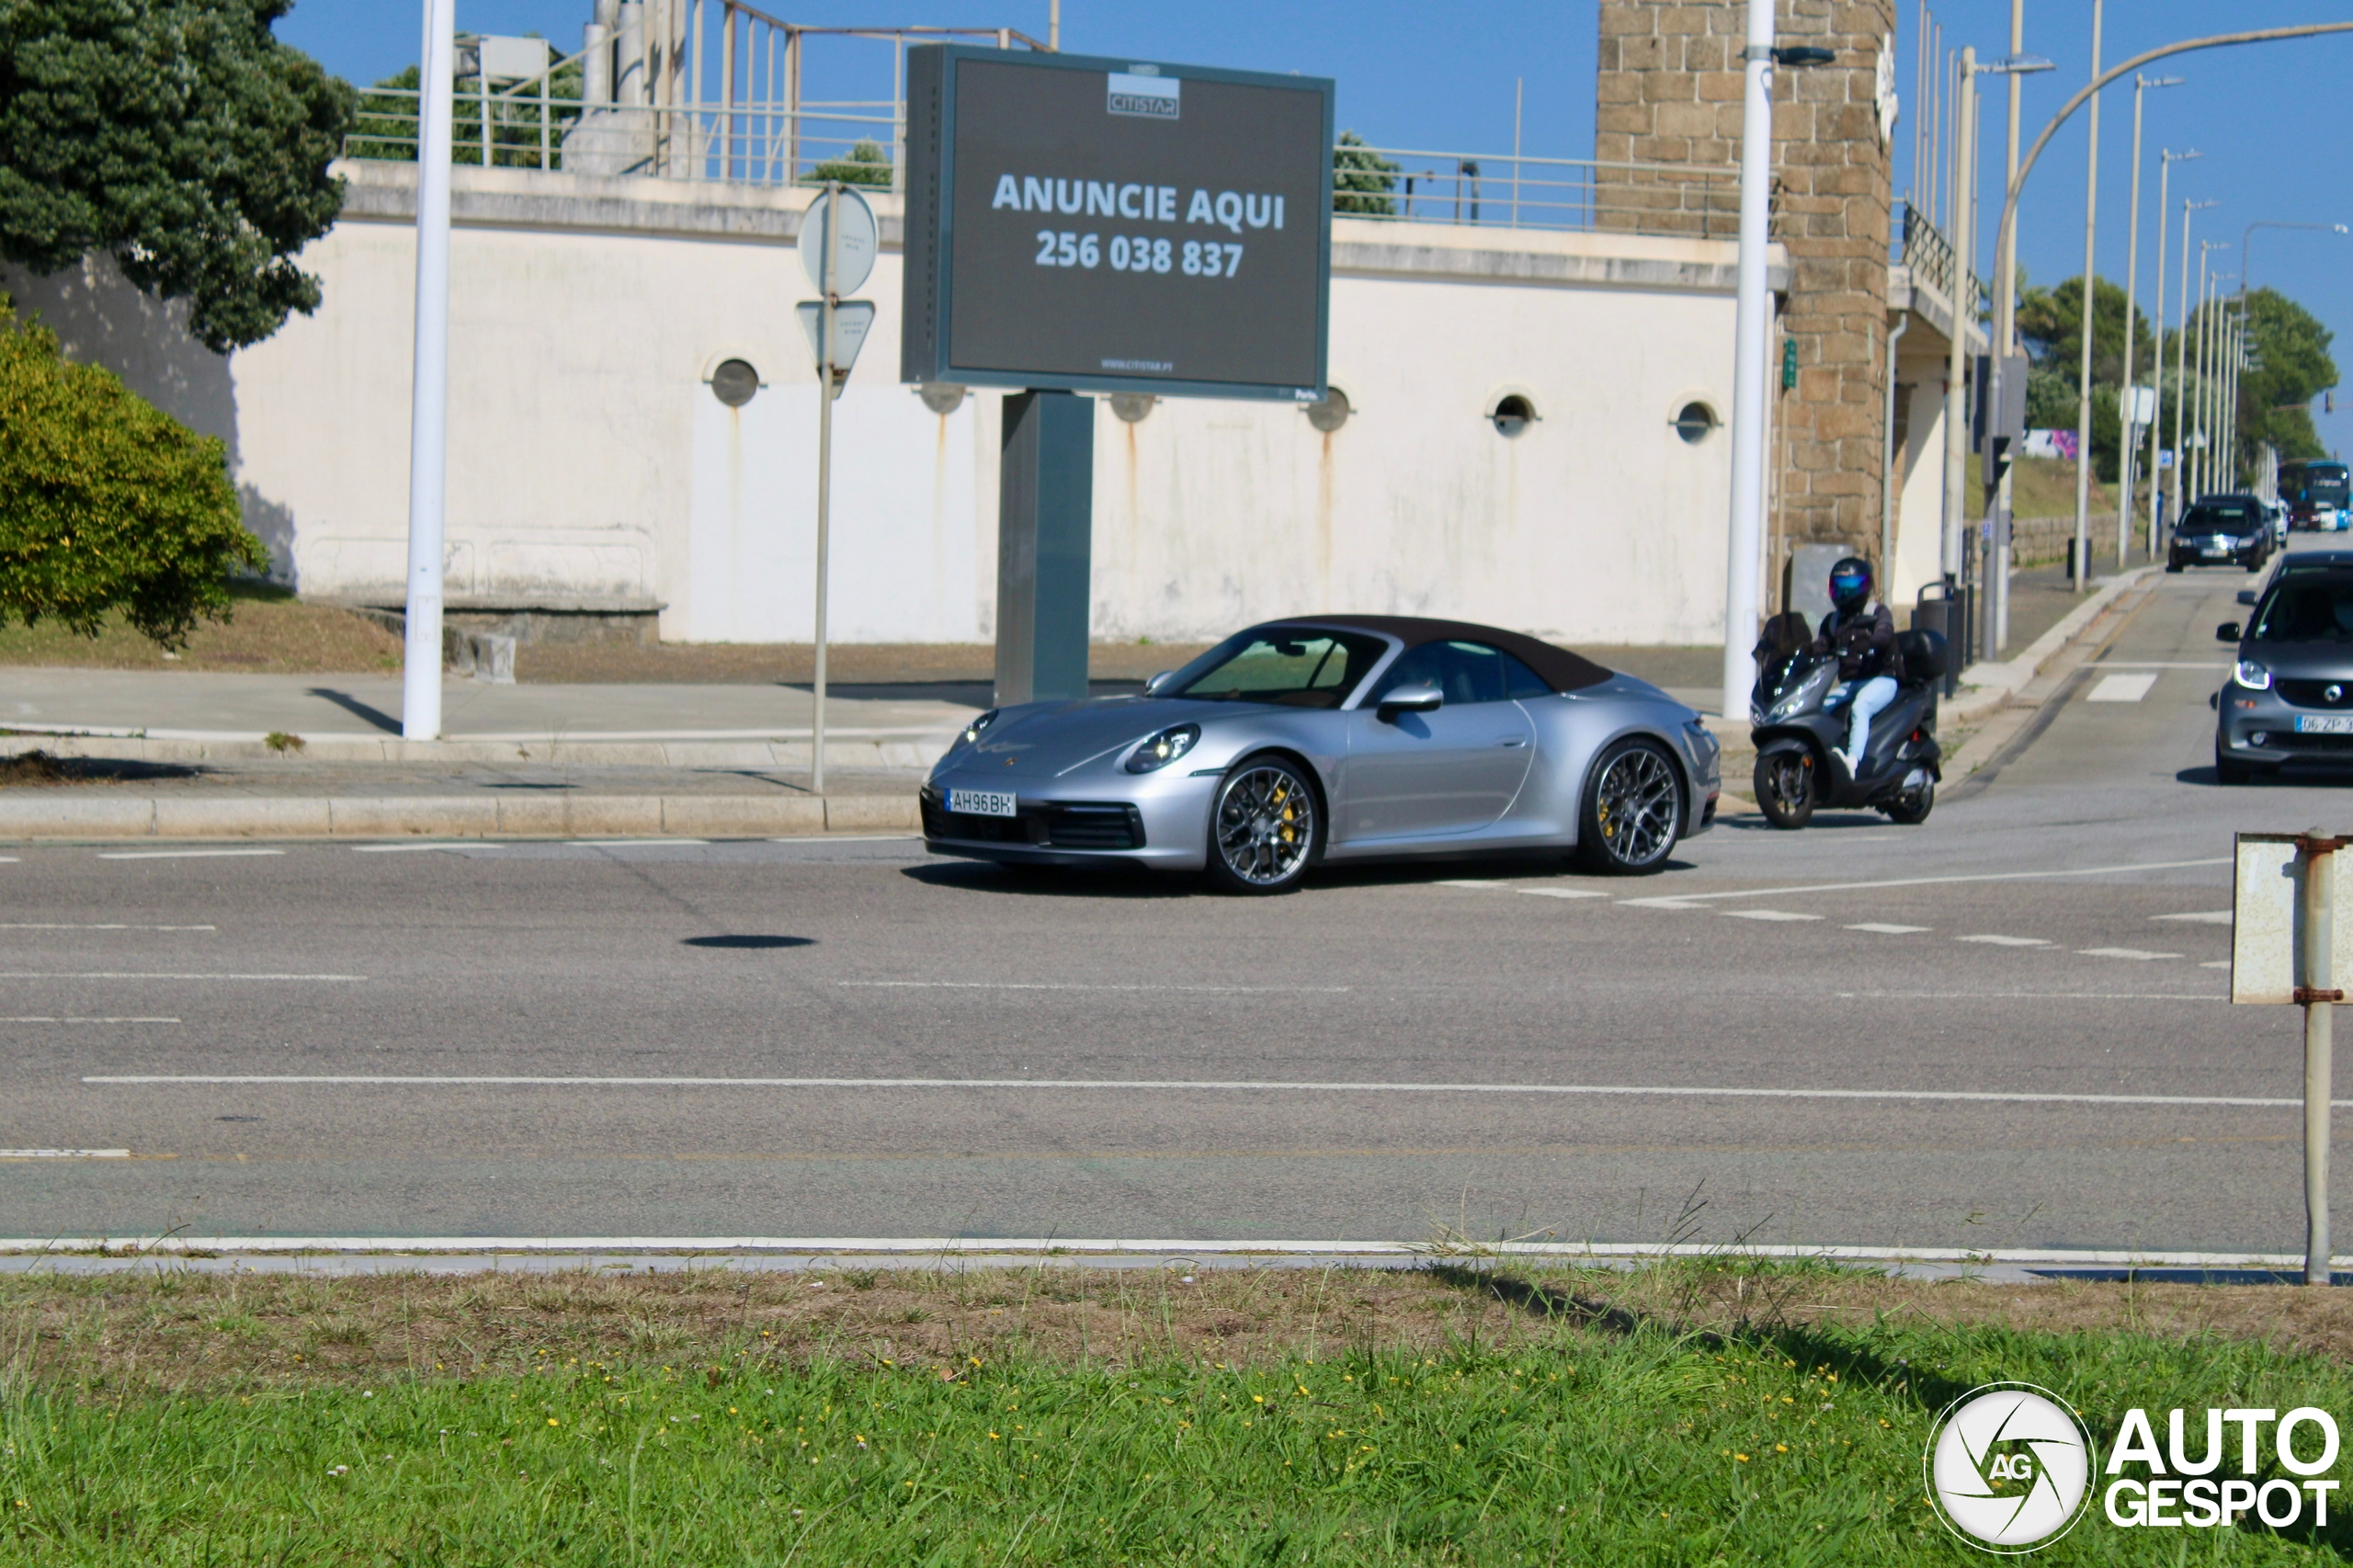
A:
[[[278,42],[292,0],[0,0],[0,257],[111,252],[226,353],[318,308],[351,87]]]

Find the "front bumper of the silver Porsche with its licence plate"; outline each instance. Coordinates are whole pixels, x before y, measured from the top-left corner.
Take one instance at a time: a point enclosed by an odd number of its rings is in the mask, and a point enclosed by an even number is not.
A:
[[[1064,782],[941,768],[920,793],[922,843],[934,855],[1024,866],[1134,864],[1200,871],[1209,864],[1209,803],[1224,772],[1094,775]],[[951,812],[951,789],[1012,793],[1014,815]]]

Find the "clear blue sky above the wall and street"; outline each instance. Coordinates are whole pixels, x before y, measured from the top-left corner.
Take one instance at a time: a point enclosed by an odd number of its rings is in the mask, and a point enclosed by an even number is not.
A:
[[[329,71],[355,82],[391,75],[416,61],[416,0],[299,0],[278,33]],[[1012,26],[1045,38],[1045,0],[892,0],[864,5],[812,0],[762,7],[812,26]],[[579,47],[591,0],[459,0],[468,33],[536,31],[562,49]],[[2009,0],[1939,0],[1937,19],[1951,47],[1977,45],[1998,57],[2009,45]],[[1911,49],[1918,0],[1897,0],[1899,71],[1906,125],[1897,129],[1897,186],[1908,184]],[[2177,38],[2294,21],[2353,19],[2346,0],[2108,0],[2104,61]],[[1475,26],[1473,26],[1475,24]],[[1132,54],[1254,71],[1301,71],[1339,82],[1339,120],[1381,146],[1466,153],[1511,151],[1513,87],[1525,82],[1522,146],[1529,155],[1588,158],[1593,153],[1595,0],[1480,0],[1478,7],[1405,5],[1400,0],[1064,0],[1061,45],[1075,54]],[[2089,73],[2092,0],[2026,0],[2026,49],[2057,61],[2057,71],[2026,78],[2024,122],[2033,141],[2042,122]],[[812,57],[812,78],[819,68]],[[885,97],[885,52],[842,54],[842,97]],[[2162,61],[2151,75],[2188,78],[2184,87],[2148,94],[2141,200],[2144,294],[2155,271],[2155,155],[2160,146],[2198,148],[2198,162],[2174,165],[2172,233],[2179,245],[2179,200],[2219,198],[2198,214],[2198,235],[2228,240],[2219,266],[2238,271],[2238,245],[2249,221],[2322,221],[2353,226],[2348,191],[2346,106],[2353,101],[2353,35],[2254,45]],[[826,92],[812,80],[809,92]],[[2002,174],[2002,87],[1988,82],[1981,186],[1998,191]],[[2111,87],[2101,108],[2099,271],[2122,283],[2127,200],[2132,191],[2132,87]],[[2082,113],[2059,132],[2026,188],[2019,259],[2031,278],[2059,280],[2082,271],[2085,125]],[[1993,214],[1984,219],[1991,231]],[[1991,257],[1991,233],[1984,235]],[[1981,257],[1981,266],[1986,259]],[[2259,231],[2257,283],[2304,301],[2339,337],[2334,353],[2353,365],[2353,238]],[[2144,306],[2146,308],[2146,306]],[[2353,450],[2353,400],[2322,421],[2322,440]]]

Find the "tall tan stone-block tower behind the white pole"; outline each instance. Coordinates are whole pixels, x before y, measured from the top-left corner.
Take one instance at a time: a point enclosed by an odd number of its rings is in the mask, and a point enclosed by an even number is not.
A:
[[[1795,544],[1868,558],[1880,549],[1892,137],[1882,54],[1894,47],[1894,0],[1777,9],[1781,42],[1833,49],[1838,64],[1774,71],[1772,228],[1791,259],[1781,334],[1798,346],[1798,386],[1781,391],[1777,341],[1772,582]],[[1600,0],[1600,24],[1595,160],[1739,162],[1748,0]],[[1737,233],[1737,193],[1722,181],[1711,179],[1704,200],[1671,174],[1602,172],[1595,184],[1605,228]]]

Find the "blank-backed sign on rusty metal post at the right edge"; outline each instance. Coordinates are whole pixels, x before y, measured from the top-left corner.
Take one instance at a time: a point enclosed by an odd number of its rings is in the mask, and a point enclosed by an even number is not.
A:
[[[2329,1099],[2334,1012],[2353,975],[2337,928],[2337,850],[2353,838],[2240,833],[2231,911],[2231,1001],[2304,1008],[2304,1283],[2329,1283]]]

